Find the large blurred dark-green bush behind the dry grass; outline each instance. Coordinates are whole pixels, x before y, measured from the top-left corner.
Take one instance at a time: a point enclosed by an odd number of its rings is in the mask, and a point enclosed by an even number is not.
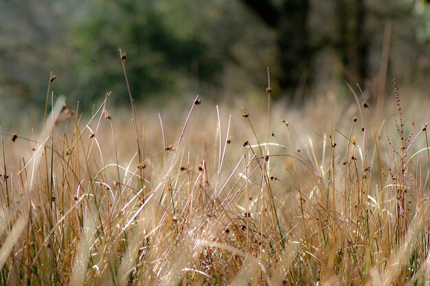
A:
[[[81,89],[89,97],[100,90],[113,90],[116,98],[125,93],[118,47],[131,59],[127,74],[135,99],[172,93],[185,79],[216,84],[221,60],[199,35],[189,32],[194,23],[181,14],[183,5],[184,1],[95,1],[89,8],[91,16],[74,36]],[[175,25],[172,9],[177,10]]]

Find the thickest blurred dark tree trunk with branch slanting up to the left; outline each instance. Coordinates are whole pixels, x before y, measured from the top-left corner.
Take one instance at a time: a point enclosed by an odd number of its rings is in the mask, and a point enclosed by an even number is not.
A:
[[[313,49],[310,47],[308,0],[284,0],[275,6],[271,0],[240,0],[267,26],[277,32],[282,93],[293,95],[297,85],[311,82]]]

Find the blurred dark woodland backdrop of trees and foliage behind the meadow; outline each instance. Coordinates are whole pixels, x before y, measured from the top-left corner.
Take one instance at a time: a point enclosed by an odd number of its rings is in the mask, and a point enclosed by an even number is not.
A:
[[[297,102],[345,82],[376,98],[393,74],[429,88],[424,0],[2,0],[0,38],[3,108],[43,107],[50,71],[69,104],[126,103],[119,47],[141,100],[260,95],[267,66],[275,95]]]

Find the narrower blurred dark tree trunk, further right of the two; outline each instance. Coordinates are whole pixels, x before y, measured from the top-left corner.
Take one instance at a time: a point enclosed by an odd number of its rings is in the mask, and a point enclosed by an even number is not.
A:
[[[365,34],[365,0],[336,0],[337,42],[341,60],[340,77],[349,84],[363,87],[367,78],[369,43]]]

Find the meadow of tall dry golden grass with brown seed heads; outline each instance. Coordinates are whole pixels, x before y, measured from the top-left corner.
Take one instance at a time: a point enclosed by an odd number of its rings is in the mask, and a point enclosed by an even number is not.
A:
[[[430,283],[430,102],[396,82],[86,113],[49,88],[43,128],[0,130],[0,285]]]

